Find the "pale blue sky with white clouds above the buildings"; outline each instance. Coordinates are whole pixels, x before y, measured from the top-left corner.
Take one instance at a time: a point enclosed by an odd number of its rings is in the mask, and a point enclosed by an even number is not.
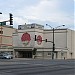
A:
[[[49,28],[65,25],[74,29],[75,0],[0,0],[0,21],[9,20],[13,14],[13,27],[37,23]],[[9,23],[8,23],[9,24]]]

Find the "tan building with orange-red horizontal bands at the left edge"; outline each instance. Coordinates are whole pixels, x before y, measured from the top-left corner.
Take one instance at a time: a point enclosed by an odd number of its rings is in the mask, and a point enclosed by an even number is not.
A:
[[[8,52],[13,54],[12,34],[16,29],[8,25],[0,25],[0,53]]]

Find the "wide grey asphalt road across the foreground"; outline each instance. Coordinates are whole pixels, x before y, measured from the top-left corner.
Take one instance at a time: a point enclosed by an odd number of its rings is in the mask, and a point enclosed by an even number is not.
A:
[[[0,75],[75,75],[75,60],[0,59]]]

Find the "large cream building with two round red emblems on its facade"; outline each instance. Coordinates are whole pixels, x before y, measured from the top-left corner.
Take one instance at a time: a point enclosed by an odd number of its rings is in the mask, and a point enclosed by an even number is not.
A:
[[[74,34],[75,31],[70,29],[55,29],[54,59],[75,59]],[[36,58],[52,59],[52,41],[52,29],[44,29],[35,23],[19,25],[18,31],[13,33],[14,57],[33,58],[33,49],[36,48]]]

